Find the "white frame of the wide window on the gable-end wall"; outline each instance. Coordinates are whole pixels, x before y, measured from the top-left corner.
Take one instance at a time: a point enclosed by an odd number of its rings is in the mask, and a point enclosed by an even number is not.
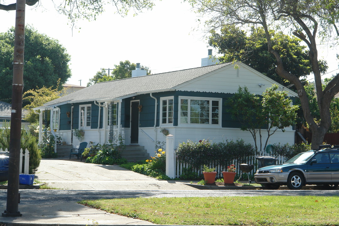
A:
[[[187,123],[181,122],[181,100],[187,99],[188,100],[188,107],[187,107]],[[191,100],[207,100],[210,101],[210,110],[209,110],[209,123],[190,123],[191,120]],[[218,124],[212,124],[212,101],[218,101]],[[186,96],[179,96],[178,102],[178,125],[195,125],[195,126],[204,126],[204,127],[221,127],[221,116],[222,116],[222,98],[208,98],[208,97],[186,97]]]

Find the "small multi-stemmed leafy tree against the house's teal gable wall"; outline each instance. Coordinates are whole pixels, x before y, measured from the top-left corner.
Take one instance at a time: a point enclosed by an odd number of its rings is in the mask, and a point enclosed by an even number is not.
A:
[[[256,150],[265,150],[268,140],[278,130],[295,124],[298,105],[291,105],[285,91],[277,91],[278,85],[266,88],[262,97],[251,94],[247,87],[239,87],[235,95],[228,98],[232,119],[239,120],[240,129],[249,131],[253,137]],[[262,149],[262,130],[267,138]],[[259,133],[260,147],[257,145]]]

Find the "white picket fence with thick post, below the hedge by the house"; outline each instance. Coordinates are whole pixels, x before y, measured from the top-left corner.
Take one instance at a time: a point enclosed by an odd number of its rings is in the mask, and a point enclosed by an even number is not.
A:
[[[266,153],[266,151],[262,151],[259,153],[257,156],[271,156],[277,158],[276,164],[282,164],[287,160],[284,156],[273,156],[270,155],[269,153]],[[256,156],[250,156],[247,157],[246,161],[239,162],[237,159],[233,160],[231,164],[234,164],[236,167],[236,172],[242,173],[239,169],[239,164],[248,164],[248,165],[254,165],[254,168],[249,174],[254,175],[254,173],[257,171],[258,168],[258,160],[255,158]],[[211,168],[216,168],[215,170],[217,171],[217,178],[222,177],[222,171],[227,171],[227,166],[224,165],[219,165],[219,164],[206,164],[208,167]],[[185,162],[180,162],[175,153],[175,148],[174,148],[174,137],[172,135],[166,136],[166,175],[170,178],[180,178],[180,175],[182,174],[182,170],[184,168],[189,168],[192,167],[188,165]],[[200,166],[199,168],[193,168],[192,170],[199,175],[202,174],[202,167]]]

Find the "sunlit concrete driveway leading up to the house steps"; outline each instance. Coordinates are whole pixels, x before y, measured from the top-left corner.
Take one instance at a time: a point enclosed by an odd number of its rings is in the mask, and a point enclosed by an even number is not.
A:
[[[42,159],[35,179],[59,189],[76,190],[197,190],[187,181],[164,181],[119,166],[77,159]]]

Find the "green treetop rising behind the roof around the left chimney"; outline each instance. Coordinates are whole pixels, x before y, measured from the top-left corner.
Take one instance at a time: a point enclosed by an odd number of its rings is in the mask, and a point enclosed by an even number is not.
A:
[[[102,69],[101,71],[98,71],[93,78],[89,79],[87,86],[91,86],[98,82],[107,82],[112,80],[131,78],[132,70],[135,70],[136,66],[137,65],[135,63],[131,63],[128,60],[120,61],[118,65],[114,65],[115,68],[113,69],[111,75],[107,75],[106,71]],[[142,65],[140,67],[147,71],[147,75],[151,74],[151,70],[149,70],[148,67],[144,67]]]

